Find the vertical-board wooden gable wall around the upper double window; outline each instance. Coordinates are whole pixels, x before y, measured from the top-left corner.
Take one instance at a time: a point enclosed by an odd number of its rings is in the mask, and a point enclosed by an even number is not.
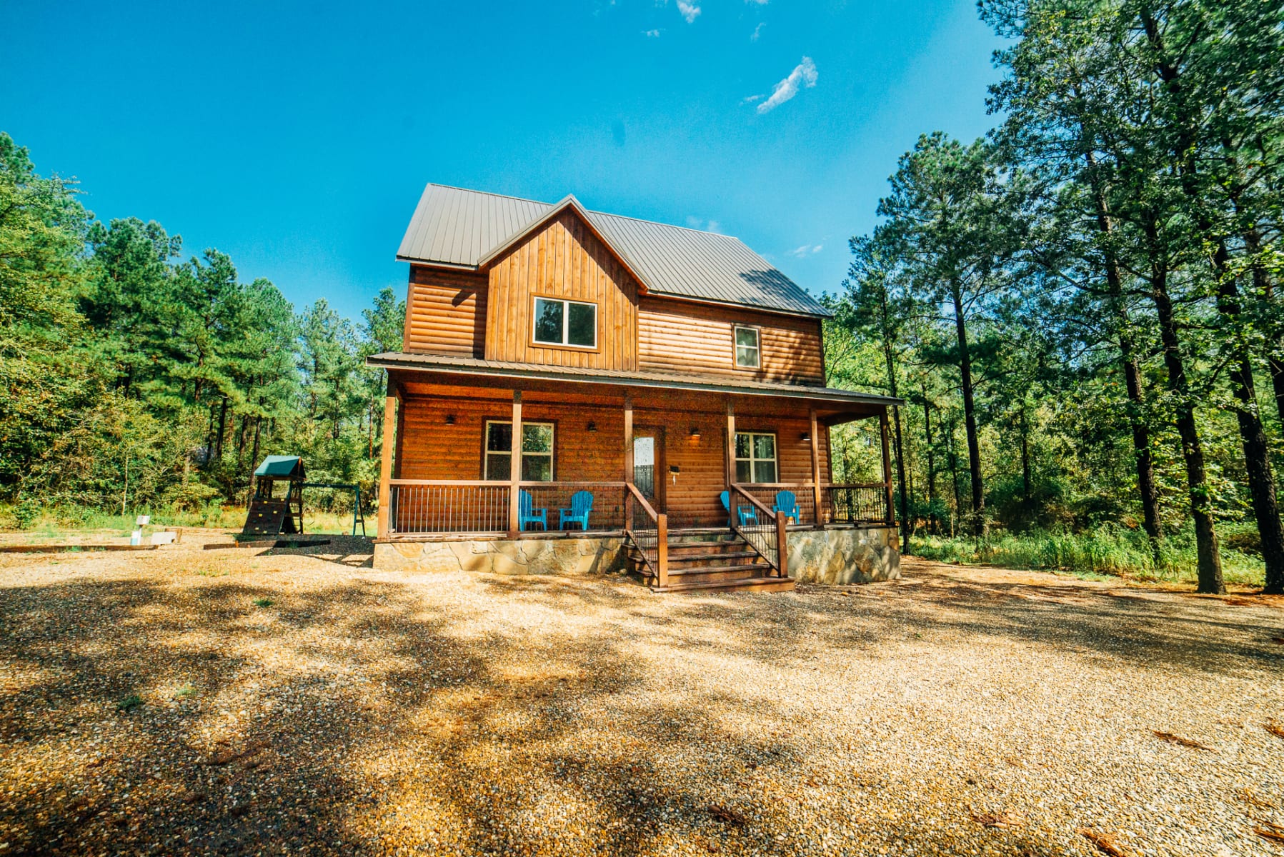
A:
[[[489,267],[485,358],[597,369],[638,368],[638,287],[574,212],[562,212]],[[597,304],[597,348],[537,345],[534,298]]]

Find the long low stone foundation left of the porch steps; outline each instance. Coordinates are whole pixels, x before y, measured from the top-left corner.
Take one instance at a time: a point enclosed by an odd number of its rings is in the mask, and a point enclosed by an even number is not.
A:
[[[620,571],[621,536],[591,539],[494,539],[384,541],[375,544],[381,571],[485,571],[496,575],[594,575]]]

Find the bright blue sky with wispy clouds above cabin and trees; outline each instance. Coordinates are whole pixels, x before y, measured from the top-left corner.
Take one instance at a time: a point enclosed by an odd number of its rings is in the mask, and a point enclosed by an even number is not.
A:
[[[0,130],[298,308],[403,293],[428,181],[714,228],[820,294],[918,133],[990,127],[998,45],[972,0],[4,0]]]

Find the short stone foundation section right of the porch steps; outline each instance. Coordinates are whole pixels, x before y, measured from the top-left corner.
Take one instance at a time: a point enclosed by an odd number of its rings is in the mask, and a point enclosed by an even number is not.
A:
[[[790,576],[810,584],[868,584],[900,577],[894,527],[792,530]]]

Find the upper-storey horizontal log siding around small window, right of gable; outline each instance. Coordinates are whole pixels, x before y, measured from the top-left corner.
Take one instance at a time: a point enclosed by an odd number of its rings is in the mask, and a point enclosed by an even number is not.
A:
[[[759,368],[736,366],[736,326],[759,330]],[[638,305],[638,368],[824,384],[820,319],[643,296]]]

